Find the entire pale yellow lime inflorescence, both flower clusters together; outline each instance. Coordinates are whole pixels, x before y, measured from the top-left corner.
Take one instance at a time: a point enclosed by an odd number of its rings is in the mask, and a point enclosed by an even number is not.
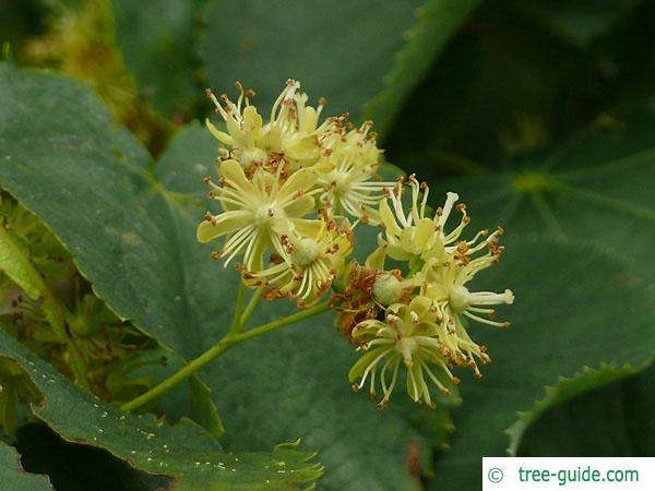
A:
[[[455,367],[479,376],[478,363],[489,361],[469,322],[509,325],[493,320],[492,306],[512,303],[510,290],[468,289],[502,254],[502,229],[467,240],[457,194],[431,211],[428,187],[414,176],[383,182],[371,123],[355,128],[347,115],[321,122],[324,101],[309,106],[299,86],[287,82],[267,122],[240,84],[236,104],[209,92],[225,121],[223,131],[207,120],[222,146],[219,179],[206,182],[222,211],[206,214],[198,239],[224,237],[213,256],[226,265],[237,259],[245,284],[267,299],[305,307],[334,289],[337,325],[364,354],[349,373],[354,387],[369,384],[373,398],[381,390],[384,407],[404,367],[412,399],[433,407],[430,384],[449,394]],[[449,226],[455,212],[458,223]],[[382,227],[364,265],[347,262],[358,223]]]

